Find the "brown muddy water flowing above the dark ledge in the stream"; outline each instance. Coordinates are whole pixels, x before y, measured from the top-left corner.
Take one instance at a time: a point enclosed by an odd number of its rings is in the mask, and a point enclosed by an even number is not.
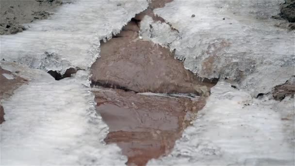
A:
[[[202,93],[198,92],[201,86],[213,85],[201,83],[168,49],[148,41],[111,39],[101,45],[100,56],[92,66],[94,84],[135,92],[194,94]],[[203,88],[204,93],[209,91]]]

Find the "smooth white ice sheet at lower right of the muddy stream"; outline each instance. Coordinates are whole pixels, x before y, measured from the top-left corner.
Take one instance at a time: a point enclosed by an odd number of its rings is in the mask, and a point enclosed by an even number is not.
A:
[[[295,164],[294,98],[252,99],[224,82],[211,91],[172,153],[148,165]]]

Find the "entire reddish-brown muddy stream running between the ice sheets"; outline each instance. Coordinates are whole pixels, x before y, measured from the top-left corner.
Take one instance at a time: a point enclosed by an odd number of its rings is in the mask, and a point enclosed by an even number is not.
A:
[[[139,39],[140,20],[148,15],[164,22],[152,10],[169,1],[152,1],[119,34],[101,42],[91,67],[92,85],[101,88],[94,91],[97,112],[110,128],[105,142],[122,149],[127,165],[144,166],[168,154],[216,83],[186,70],[168,48]]]

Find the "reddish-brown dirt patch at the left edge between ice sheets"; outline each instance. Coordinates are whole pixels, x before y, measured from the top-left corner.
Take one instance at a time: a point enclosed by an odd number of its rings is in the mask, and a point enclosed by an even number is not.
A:
[[[7,79],[4,75],[13,79]],[[0,67],[0,100],[7,99],[13,95],[13,91],[16,90],[20,85],[27,83],[27,81],[21,77],[16,76],[14,73],[5,70]],[[0,124],[4,120],[4,109],[0,105]]]

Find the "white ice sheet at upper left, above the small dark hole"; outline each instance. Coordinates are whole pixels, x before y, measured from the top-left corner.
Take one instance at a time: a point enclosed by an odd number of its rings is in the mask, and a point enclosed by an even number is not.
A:
[[[0,56],[62,74],[69,67],[87,69],[99,56],[99,40],[112,38],[147,7],[146,0],[75,0],[24,32],[2,35]]]

